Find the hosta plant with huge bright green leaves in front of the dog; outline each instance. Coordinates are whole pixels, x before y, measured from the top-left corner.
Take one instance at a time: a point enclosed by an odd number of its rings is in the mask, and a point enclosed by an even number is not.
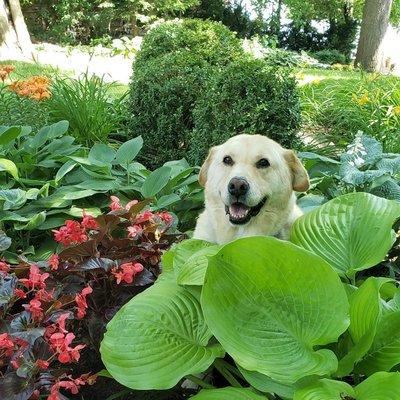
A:
[[[299,218],[290,242],[184,241],[108,324],[104,364],[134,389],[192,380],[193,399],[396,400],[400,290],[365,272],[398,257],[399,218],[398,202],[351,193]]]

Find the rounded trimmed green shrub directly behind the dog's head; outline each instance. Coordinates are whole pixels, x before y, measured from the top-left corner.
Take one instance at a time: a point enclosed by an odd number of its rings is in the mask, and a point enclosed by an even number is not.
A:
[[[199,164],[208,149],[239,133],[262,134],[296,148],[300,124],[296,81],[286,69],[242,59],[209,80],[194,110],[189,160]]]

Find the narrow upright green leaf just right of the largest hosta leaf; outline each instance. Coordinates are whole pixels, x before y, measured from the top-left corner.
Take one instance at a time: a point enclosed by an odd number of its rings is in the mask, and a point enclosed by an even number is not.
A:
[[[389,282],[390,279],[371,277],[350,295],[349,332],[353,346],[339,361],[337,376],[349,375],[354,364],[359,362],[370,349],[383,311],[380,292]]]

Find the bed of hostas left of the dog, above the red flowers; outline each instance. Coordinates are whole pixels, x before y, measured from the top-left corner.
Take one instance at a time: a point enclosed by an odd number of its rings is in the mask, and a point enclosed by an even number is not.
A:
[[[45,257],[52,251],[49,230],[83,209],[100,215],[110,195],[151,199],[153,211],[168,207],[178,215],[182,229],[193,223],[192,210],[202,204],[196,168],[178,160],[149,171],[135,162],[140,136],[86,149],[68,132],[67,121],[38,131],[0,126],[0,228],[13,238],[9,253],[32,253],[35,246],[35,258]]]

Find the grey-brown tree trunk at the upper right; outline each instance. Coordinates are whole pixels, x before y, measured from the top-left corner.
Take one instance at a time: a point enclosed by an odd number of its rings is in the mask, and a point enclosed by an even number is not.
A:
[[[382,42],[389,25],[393,0],[365,0],[356,65],[367,71],[383,68]]]

